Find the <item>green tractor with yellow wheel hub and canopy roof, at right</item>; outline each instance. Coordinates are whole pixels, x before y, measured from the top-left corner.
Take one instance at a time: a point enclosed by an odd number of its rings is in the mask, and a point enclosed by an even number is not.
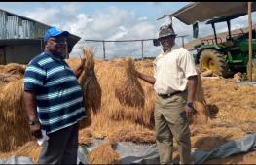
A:
[[[230,20],[243,15],[222,16],[210,19],[206,24],[211,24],[214,31],[214,38],[202,40],[201,44],[195,45],[197,54],[195,61],[199,64],[201,71],[211,71],[215,76],[230,77],[236,72],[248,70],[248,33],[240,29],[240,33],[231,34]],[[227,22],[229,34],[226,41],[218,38],[215,30],[215,23]],[[252,31],[252,77],[256,80],[256,33]]]

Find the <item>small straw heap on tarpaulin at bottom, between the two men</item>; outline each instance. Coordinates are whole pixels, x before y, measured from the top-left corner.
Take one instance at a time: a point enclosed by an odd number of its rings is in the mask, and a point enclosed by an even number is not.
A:
[[[121,164],[121,156],[113,149],[112,142],[105,142],[89,152],[90,164]]]

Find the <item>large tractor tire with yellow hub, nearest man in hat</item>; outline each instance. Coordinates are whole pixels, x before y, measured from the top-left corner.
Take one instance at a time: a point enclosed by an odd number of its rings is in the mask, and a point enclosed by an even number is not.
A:
[[[231,72],[225,56],[215,49],[204,49],[200,56],[200,70],[211,71],[214,76],[228,77]]]

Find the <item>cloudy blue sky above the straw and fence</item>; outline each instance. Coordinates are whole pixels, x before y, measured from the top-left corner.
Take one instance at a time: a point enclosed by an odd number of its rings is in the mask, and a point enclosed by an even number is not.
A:
[[[82,55],[81,48],[93,47],[95,57],[102,58],[102,43],[84,40],[133,40],[157,38],[160,26],[169,18],[157,18],[170,14],[191,2],[0,2],[0,8],[26,16],[39,22],[56,26],[81,37],[70,57]],[[253,13],[252,17],[256,15]],[[254,18],[252,18],[255,23]],[[248,26],[248,16],[231,21],[232,30]],[[215,25],[217,32],[227,31],[226,23]],[[178,35],[186,35],[185,43],[193,40],[192,26],[173,18],[173,28]],[[213,34],[210,25],[199,24],[199,37]],[[176,43],[182,46],[181,38]],[[143,43],[144,56],[157,56],[161,47],[152,41]],[[106,57],[130,55],[141,57],[141,43],[106,43]]]

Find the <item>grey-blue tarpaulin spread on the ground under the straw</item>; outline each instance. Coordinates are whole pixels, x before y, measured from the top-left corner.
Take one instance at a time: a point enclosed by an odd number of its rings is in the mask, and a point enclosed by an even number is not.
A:
[[[95,140],[94,144],[87,148],[91,151],[104,141]],[[156,144],[137,145],[131,142],[118,142],[114,149],[121,155],[122,164],[159,164],[159,154]],[[226,158],[233,154],[256,150],[256,133],[249,134],[238,140],[229,141],[210,151],[195,150],[192,155],[195,164],[201,164],[206,160]],[[78,148],[77,164],[88,164],[87,152],[82,147]],[[11,156],[8,159],[0,159],[0,164],[33,164],[29,157]]]

